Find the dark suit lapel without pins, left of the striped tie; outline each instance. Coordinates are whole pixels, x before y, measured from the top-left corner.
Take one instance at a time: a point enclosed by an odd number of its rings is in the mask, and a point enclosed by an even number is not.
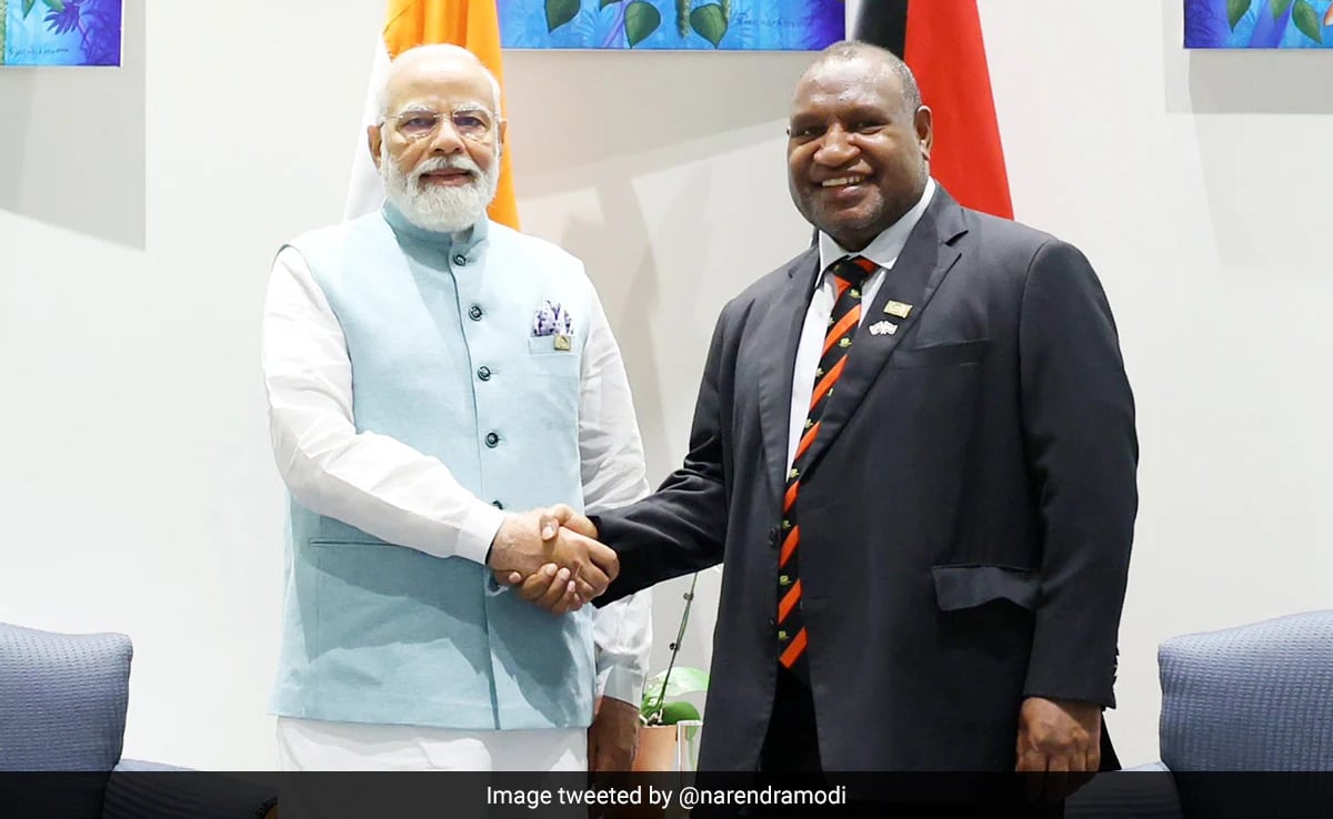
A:
[[[790,435],[792,378],[796,346],[809,309],[810,292],[818,274],[820,253],[806,250],[786,269],[786,289],[764,316],[756,333],[762,354],[758,380],[758,417],[764,435],[764,459],[773,493],[786,485],[786,447]],[[772,354],[766,354],[772,352]]]

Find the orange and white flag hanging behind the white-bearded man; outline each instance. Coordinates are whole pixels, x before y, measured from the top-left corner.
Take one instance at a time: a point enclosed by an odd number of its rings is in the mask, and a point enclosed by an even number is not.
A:
[[[365,95],[365,124],[375,124],[379,115],[376,95],[384,87],[389,61],[413,45],[435,43],[452,43],[467,48],[491,69],[504,88],[496,0],[389,0],[383,36],[376,47],[375,65],[371,69],[371,87]],[[503,111],[497,113],[503,116]],[[369,213],[384,202],[384,186],[367,150],[364,128],[361,131],[352,160],[345,218]],[[489,216],[497,222],[519,228],[519,205],[513,196],[508,145],[500,156],[500,188],[495,201],[491,202]]]

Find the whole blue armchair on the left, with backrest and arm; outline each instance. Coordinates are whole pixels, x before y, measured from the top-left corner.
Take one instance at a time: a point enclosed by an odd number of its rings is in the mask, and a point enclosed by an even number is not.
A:
[[[53,634],[0,623],[0,804],[5,816],[264,816],[263,787],[121,759],[124,634]]]

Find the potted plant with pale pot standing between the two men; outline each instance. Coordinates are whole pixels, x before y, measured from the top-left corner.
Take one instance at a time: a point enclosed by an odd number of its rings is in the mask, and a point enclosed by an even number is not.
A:
[[[681,731],[690,728],[686,740],[697,740],[700,715],[694,703],[681,699],[686,694],[697,694],[708,690],[708,671],[677,666],[676,655],[680,654],[680,645],[685,639],[685,626],[689,623],[689,609],[694,602],[694,586],[698,575],[689,583],[685,593],[685,609],[680,615],[680,627],[676,630],[676,639],[670,643],[670,661],[666,670],[655,674],[644,683],[644,699],[639,707],[639,719],[644,727],[639,734],[639,752],[635,755],[636,771],[674,771],[678,770],[677,746],[681,742]]]

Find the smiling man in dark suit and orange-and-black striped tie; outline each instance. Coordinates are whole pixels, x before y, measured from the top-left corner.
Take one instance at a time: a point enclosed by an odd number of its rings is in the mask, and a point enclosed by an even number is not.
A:
[[[817,246],[724,308],[681,469],[567,521],[619,553],[601,601],[724,563],[702,770],[1102,764],[1137,507],[1114,322],[1077,249],[930,180],[930,121],[892,53],[820,55],[788,144]]]

